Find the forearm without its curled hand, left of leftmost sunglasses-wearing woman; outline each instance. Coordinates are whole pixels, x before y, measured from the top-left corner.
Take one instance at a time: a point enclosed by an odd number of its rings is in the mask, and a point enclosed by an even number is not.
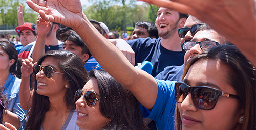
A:
[[[24,77],[22,75],[22,82],[20,83],[19,88],[19,102],[20,106],[22,106],[22,109],[28,110],[30,108],[30,97],[32,95],[32,92],[29,87],[30,83],[30,76]]]

